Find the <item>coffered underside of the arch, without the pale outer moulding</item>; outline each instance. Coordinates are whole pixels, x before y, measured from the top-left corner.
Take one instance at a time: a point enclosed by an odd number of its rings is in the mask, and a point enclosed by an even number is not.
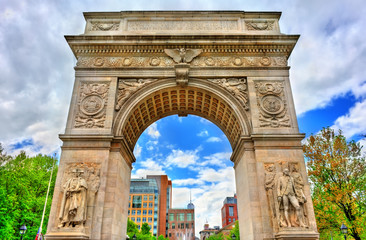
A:
[[[243,134],[239,116],[228,101],[206,89],[174,86],[154,91],[135,103],[124,122],[119,123],[116,135],[124,136],[130,149],[134,149],[148,126],[175,114],[191,114],[211,121],[224,132],[232,149]]]

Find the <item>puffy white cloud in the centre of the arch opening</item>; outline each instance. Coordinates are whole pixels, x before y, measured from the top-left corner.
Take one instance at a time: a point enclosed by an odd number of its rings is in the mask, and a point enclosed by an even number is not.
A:
[[[186,150],[182,151],[180,149],[173,149],[172,152],[167,157],[168,166],[177,166],[180,168],[186,168],[190,165],[193,165],[199,159],[198,156],[199,150],[196,149],[194,151]]]

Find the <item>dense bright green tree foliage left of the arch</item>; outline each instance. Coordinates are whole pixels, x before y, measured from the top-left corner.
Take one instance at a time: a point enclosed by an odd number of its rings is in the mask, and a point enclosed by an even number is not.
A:
[[[10,157],[0,145],[0,239],[19,239],[19,227],[22,224],[27,226],[24,239],[35,238],[55,161],[44,155],[27,157],[25,152]],[[47,229],[56,173],[57,166],[53,172],[43,232]]]

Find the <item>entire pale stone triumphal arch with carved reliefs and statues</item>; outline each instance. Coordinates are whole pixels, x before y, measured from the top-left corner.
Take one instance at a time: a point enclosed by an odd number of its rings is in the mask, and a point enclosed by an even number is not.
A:
[[[46,238],[125,239],[139,136],[193,114],[232,146],[241,239],[318,239],[287,61],[299,35],[280,16],[84,13]]]

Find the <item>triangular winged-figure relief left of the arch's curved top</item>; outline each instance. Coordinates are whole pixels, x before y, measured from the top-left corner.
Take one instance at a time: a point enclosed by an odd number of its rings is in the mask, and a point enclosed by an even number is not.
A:
[[[123,103],[137,90],[158,79],[120,79],[118,81],[117,104],[115,109],[118,111]]]

